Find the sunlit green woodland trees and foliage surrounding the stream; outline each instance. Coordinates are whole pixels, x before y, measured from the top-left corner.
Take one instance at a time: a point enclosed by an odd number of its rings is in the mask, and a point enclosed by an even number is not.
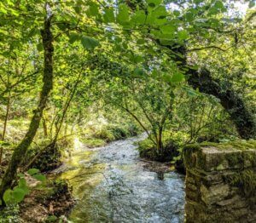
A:
[[[140,154],[161,161],[255,138],[253,57],[253,0],[3,0],[2,203],[30,167],[59,166],[74,136],[145,132]]]

